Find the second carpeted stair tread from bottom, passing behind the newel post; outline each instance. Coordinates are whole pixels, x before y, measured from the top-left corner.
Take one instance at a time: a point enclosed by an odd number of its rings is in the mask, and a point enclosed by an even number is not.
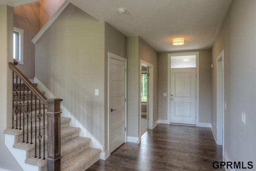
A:
[[[74,151],[76,148],[79,148],[80,146],[85,146],[87,143],[90,142],[90,138],[86,138],[86,137],[77,137],[75,139],[72,139],[66,143],[63,143],[60,146],[60,151],[61,151],[61,155],[62,157],[64,155],[67,155],[68,153]],[[69,156],[69,158],[72,158],[73,156]],[[43,160],[35,158],[35,157],[30,157],[28,159],[25,160],[25,163],[30,164],[30,165],[36,165],[38,167],[43,167],[44,165],[47,165],[47,151],[46,151],[46,159]],[[61,162],[64,163],[64,161]]]

